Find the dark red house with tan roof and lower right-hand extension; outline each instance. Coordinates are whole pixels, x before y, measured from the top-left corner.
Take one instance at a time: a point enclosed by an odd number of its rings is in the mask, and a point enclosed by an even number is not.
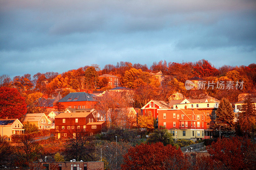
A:
[[[106,126],[105,122],[95,122],[91,112],[60,113],[55,117],[56,139],[73,138],[77,133],[86,133],[91,136],[100,133]]]

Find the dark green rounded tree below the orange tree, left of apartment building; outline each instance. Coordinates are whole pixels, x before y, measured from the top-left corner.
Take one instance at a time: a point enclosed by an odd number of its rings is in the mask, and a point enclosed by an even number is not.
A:
[[[166,146],[167,144],[174,145],[171,133],[169,133],[168,130],[163,126],[159,126],[158,129],[155,129],[151,134],[149,134],[147,142],[149,144],[162,142],[164,146]]]

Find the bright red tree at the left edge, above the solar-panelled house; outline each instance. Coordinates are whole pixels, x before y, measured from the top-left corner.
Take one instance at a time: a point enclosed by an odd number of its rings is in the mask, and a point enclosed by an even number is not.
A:
[[[15,88],[0,88],[0,118],[20,119],[27,113],[25,98]]]

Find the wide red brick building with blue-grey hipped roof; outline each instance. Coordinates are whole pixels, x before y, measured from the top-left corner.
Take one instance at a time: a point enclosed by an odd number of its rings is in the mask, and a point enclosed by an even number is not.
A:
[[[92,108],[97,101],[86,92],[69,93],[59,100],[65,108]]]

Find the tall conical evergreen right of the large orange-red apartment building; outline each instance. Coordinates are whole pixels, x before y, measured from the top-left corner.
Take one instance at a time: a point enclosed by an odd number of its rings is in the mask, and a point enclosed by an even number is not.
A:
[[[223,130],[234,130],[234,111],[228,99],[222,98],[220,100],[220,105],[215,114],[216,128],[220,127],[220,125],[224,125],[221,127]]]

